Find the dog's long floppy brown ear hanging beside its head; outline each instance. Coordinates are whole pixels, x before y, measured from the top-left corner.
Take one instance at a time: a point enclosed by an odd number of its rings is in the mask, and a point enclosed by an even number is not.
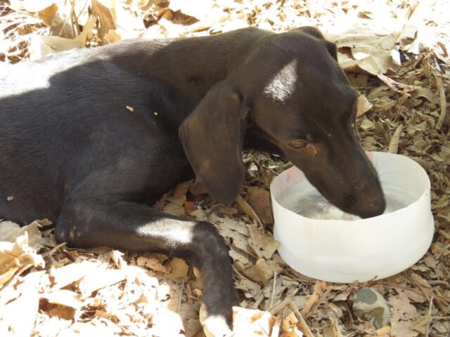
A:
[[[240,96],[224,80],[210,88],[179,128],[195,174],[212,197],[224,204],[236,199],[244,180],[246,113]]]

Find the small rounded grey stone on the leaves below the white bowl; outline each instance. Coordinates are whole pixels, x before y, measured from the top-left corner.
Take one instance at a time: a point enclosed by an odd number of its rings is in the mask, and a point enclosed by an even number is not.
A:
[[[377,291],[371,288],[359,290],[353,298],[353,312],[356,317],[372,322],[376,329],[390,322],[390,306]]]

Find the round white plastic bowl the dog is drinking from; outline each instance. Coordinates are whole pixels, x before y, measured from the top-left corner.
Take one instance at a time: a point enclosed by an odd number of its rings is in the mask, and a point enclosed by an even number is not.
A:
[[[434,220],[427,173],[399,154],[367,154],[383,191],[394,192],[399,199],[407,195],[409,205],[368,219],[315,220],[280,204],[292,185],[314,189],[302,171],[292,167],[271,183],[278,253],[297,272],[328,282],[382,279],[406,270],[430,247]]]

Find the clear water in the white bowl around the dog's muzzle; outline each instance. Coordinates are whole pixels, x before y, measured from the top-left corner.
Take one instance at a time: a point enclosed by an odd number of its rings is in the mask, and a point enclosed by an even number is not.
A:
[[[412,204],[415,200],[413,194],[397,190],[395,187],[383,186],[386,199],[384,214],[392,213]],[[361,220],[359,216],[345,213],[333,206],[314,188],[304,188],[304,184],[295,184],[283,192],[280,204],[305,218],[318,220]]]

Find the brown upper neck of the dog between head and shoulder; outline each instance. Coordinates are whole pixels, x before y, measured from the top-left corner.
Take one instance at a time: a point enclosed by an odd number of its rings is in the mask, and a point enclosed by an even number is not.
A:
[[[245,34],[243,34],[245,32]],[[252,44],[266,34],[262,29],[242,29],[214,37],[136,41],[136,52],[126,67],[139,76],[162,81],[193,103],[198,103],[218,81],[244,60]],[[174,57],[176,55],[176,57]],[[125,57],[125,55],[123,55]]]

